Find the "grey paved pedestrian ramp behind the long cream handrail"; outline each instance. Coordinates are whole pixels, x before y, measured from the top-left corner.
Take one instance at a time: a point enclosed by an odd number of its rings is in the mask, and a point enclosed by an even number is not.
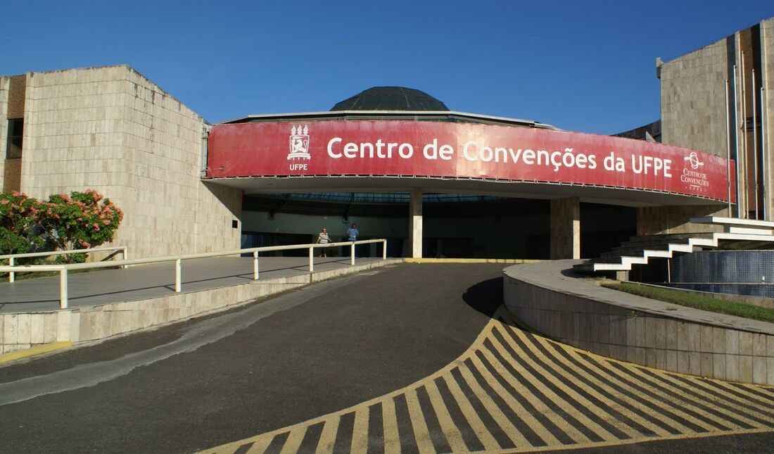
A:
[[[355,265],[382,260],[355,259]],[[349,257],[317,257],[314,271],[350,266]],[[259,279],[309,273],[308,257],[260,257]],[[0,313],[56,311],[59,276],[6,281],[0,284]],[[183,292],[245,284],[252,280],[252,257],[217,257],[183,261]],[[152,263],[118,270],[71,273],[68,278],[70,308],[139,301],[175,291],[175,263]]]

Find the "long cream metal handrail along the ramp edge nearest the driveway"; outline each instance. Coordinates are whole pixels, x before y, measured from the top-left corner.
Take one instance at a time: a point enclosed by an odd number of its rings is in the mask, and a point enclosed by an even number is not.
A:
[[[363,239],[360,241],[345,241],[345,242],[329,242],[327,244],[296,244],[287,246],[262,246],[262,247],[250,247],[245,249],[231,249],[228,251],[220,251],[213,253],[195,253],[195,254],[180,254],[176,256],[161,256],[161,257],[149,257],[146,259],[130,259],[130,260],[114,260],[112,262],[90,262],[90,263],[68,263],[61,265],[8,265],[0,266],[0,273],[9,273],[15,271],[26,271],[34,273],[36,271],[57,271],[60,273],[60,292],[59,292],[59,307],[61,309],[67,309],[67,271],[68,270],[88,270],[92,268],[106,268],[106,267],[126,267],[128,265],[143,265],[147,263],[162,263],[162,262],[175,262],[175,292],[180,293],[182,291],[182,263],[183,260],[191,259],[204,259],[207,257],[218,256],[235,256],[245,253],[252,253],[253,257],[253,280],[258,280],[259,266],[258,266],[258,253],[279,251],[288,249],[309,249],[309,272],[314,270],[314,249],[337,247],[337,246],[351,246],[350,248],[350,265],[354,266],[354,245],[368,244],[372,242],[382,242],[382,260],[387,259],[387,240],[386,239]],[[125,246],[120,246],[121,249]],[[98,248],[94,248],[98,249]],[[78,252],[85,252],[89,249],[80,249]],[[62,251],[64,252],[64,251]],[[68,251],[69,252],[69,251]],[[125,250],[124,250],[125,253]],[[17,255],[18,256],[18,255]],[[13,281],[11,281],[13,282]]]

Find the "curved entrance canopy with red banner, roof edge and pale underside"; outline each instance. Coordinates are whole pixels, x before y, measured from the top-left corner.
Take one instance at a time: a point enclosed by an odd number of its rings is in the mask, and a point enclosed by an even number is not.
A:
[[[735,202],[733,161],[460,112],[260,115],[213,126],[207,178],[246,194],[423,191],[611,205]]]

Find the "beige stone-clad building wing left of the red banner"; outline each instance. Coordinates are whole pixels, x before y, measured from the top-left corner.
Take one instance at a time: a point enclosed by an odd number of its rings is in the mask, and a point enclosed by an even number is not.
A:
[[[201,181],[209,127],[124,65],[0,77],[0,184],[104,194],[125,212],[114,242],[133,256],[233,249],[241,192]]]

